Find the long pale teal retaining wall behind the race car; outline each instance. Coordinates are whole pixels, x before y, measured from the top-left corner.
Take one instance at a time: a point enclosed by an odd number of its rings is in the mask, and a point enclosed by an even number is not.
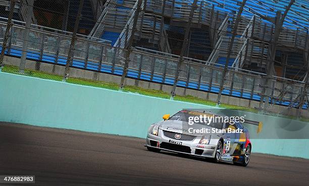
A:
[[[145,138],[151,123],[183,108],[217,109],[0,72],[0,121]],[[247,125],[253,152],[309,158],[308,123],[237,113],[264,123],[259,134]]]

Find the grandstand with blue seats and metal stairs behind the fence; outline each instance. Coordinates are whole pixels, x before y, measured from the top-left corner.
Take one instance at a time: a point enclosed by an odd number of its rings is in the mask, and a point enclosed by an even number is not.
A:
[[[22,55],[27,2],[15,6],[7,56]],[[128,78],[137,86],[143,81],[160,84],[172,96],[188,89],[181,94],[204,99],[208,93],[206,99],[218,104],[237,98],[234,105],[246,100],[248,107],[261,109],[265,103],[264,109],[272,112],[307,112],[307,3],[84,0],[71,67],[95,72],[89,79],[99,80],[98,73],[122,76],[121,87]],[[53,73],[58,73],[55,65],[68,64],[78,5],[79,0],[35,1],[27,59],[54,65]],[[1,1],[0,8],[3,42],[10,1]]]

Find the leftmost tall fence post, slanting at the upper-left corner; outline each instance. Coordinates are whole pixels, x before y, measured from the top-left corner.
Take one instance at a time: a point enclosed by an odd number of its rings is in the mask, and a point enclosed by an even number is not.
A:
[[[13,26],[12,18],[13,18],[15,3],[16,3],[16,0],[11,0],[10,12],[9,12],[9,17],[8,17],[8,24],[7,24],[6,33],[5,33],[5,36],[4,36],[4,39],[3,39],[2,51],[1,51],[1,55],[0,55],[0,72],[3,68],[3,59],[4,59],[5,51],[7,50],[8,39],[9,39],[10,35],[12,36],[12,33],[10,34],[10,30],[11,30],[11,27]]]

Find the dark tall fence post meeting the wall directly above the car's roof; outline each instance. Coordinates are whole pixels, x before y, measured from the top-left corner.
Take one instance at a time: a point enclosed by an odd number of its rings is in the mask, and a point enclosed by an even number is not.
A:
[[[228,65],[229,65],[229,61],[230,61],[230,57],[231,57],[231,51],[233,49],[233,44],[234,44],[234,39],[235,39],[235,36],[236,36],[236,33],[237,33],[238,24],[239,24],[240,19],[241,19],[240,16],[241,16],[241,13],[243,11],[243,7],[246,4],[246,1],[247,0],[243,0],[241,6],[239,7],[239,11],[238,11],[236,21],[235,21],[235,25],[234,25],[234,28],[233,28],[233,34],[232,34],[232,37],[231,37],[231,42],[229,44],[228,54],[227,54],[227,57],[226,57],[226,62],[225,62],[225,66],[224,66],[224,70],[223,70],[222,78],[221,78],[221,82],[220,82],[220,90],[219,90],[218,98],[217,98],[217,104],[218,105],[220,104],[223,85],[224,85],[224,81],[226,80],[226,74],[227,74],[227,71],[228,71]]]

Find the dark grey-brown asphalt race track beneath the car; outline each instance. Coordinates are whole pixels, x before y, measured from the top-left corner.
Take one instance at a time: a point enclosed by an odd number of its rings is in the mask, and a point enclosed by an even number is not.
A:
[[[249,165],[241,167],[169,152],[153,153],[143,145],[141,138],[0,122],[0,175],[35,175],[34,185],[309,182],[309,160],[305,159],[252,154]]]

